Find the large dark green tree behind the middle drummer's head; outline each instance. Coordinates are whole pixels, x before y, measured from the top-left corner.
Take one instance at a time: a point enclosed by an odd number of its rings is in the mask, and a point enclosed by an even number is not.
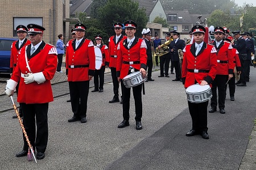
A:
[[[124,23],[129,19],[138,24],[135,35],[140,36],[148,21],[145,9],[139,9],[139,3],[131,0],[109,0],[97,12],[98,20],[103,25],[101,27],[105,29],[109,36],[114,34],[113,24],[115,22]]]

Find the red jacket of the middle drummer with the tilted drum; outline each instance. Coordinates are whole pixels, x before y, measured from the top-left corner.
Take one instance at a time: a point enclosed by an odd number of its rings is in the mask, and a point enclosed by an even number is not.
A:
[[[145,69],[147,64],[147,44],[143,39],[138,39],[135,37],[133,44],[131,44],[130,49],[127,47],[127,39],[119,42],[118,53],[117,53],[117,77],[123,79],[128,75],[129,68],[134,67],[134,69]],[[126,64],[123,62],[139,62],[135,64]]]

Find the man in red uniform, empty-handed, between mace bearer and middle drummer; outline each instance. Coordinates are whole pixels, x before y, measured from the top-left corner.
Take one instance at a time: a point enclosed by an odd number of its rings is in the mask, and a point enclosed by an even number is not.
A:
[[[95,70],[94,45],[85,39],[85,25],[75,25],[76,39],[67,44],[66,74],[68,75],[69,92],[73,117],[68,122],[87,122],[87,99],[89,80],[92,80]]]

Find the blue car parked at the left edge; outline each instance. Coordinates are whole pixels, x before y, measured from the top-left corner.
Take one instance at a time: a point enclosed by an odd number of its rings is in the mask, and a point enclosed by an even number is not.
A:
[[[15,40],[0,38],[0,73],[10,72],[11,44]]]

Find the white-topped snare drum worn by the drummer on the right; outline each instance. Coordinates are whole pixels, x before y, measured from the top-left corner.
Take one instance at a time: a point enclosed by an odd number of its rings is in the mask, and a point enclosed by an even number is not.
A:
[[[191,103],[203,103],[212,98],[212,90],[209,85],[193,84],[186,89],[186,94]]]

